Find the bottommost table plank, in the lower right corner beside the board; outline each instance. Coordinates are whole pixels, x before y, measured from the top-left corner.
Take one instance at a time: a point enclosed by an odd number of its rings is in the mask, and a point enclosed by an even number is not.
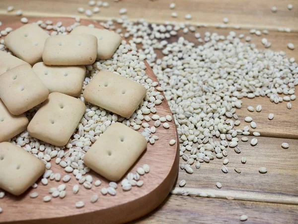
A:
[[[134,224],[248,224],[298,223],[298,206],[172,195],[157,210]]]

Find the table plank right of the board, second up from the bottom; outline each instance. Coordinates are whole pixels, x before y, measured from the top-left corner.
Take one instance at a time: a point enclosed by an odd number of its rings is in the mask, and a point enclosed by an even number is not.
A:
[[[201,163],[199,169],[192,165],[193,174],[180,169],[176,187],[179,187],[179,182],[184,179],[186,185],[182,190],[190,188],[191,191],[214,193],[220,198],[232,196],[239,200],[298,205],[298,140],[258,137],[258,144],[251,146],[252,136],[248,138],[248,142],[238,142],[241,149],[239,154],[227,147],[227,157],[215,158],[210,160],[209,164]],[[283,149],[283,142],[289,143],[290,147]],[[241,163],[242,156],[247,159],[245,164]],[[225,165],[228,168],[226,174],[221,170],[225,158],[229,160]],[[181,163],[186,162],[180,157]],[[235,167],[240,169],[241,173],[236,173]],[[266,167],[268,172],[260,174],[260,167]],[[223,187],[218,189],[216,182],[222,183]]]

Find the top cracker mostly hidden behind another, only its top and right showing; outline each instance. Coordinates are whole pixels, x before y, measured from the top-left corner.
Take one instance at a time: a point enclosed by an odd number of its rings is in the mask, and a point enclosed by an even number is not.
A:
[[[90,34],[96,36],[97,59],[109,59],[112,57],[122,41],[121,36],[114,31],[88,26],[77,26],[70,34]]]

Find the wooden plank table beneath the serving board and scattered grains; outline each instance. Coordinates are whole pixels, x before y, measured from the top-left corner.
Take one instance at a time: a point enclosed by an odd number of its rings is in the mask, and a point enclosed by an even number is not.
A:
[[[266,28],[269,35],[253,37],[252,42],[263,49],[261,38],[266,37],[272,42],[271,49],[283,50],[289,57],[298,59],[298,50],[290,51],[287,43],[292,42],[298,48],[298,2],[295,0],[176,0],[176,8],[169,9],[169,4],[175,0],[121,0],[109,1],[108,8],[101,8],[98,14],[91,19],[107,19],[119,16],[119,9],[128,9],[127,15],[131,19],[140,17],[150,22],[163,22],[175,20],[189,21],[193,24],[206,23],[209,28],[197,29],[201,34],[206,30],[227,34],[234,30],[236,33],[248,34],[249,28]],[[293,10],[287,9],[292,3]],[[16,9],[23,9],[24,16],[71,16],[77,13],[77,7],[90,8],[86,0],[10,0],[0,1],[0,21],[19,19],[6,12],[6,7],[13,5]],[[277,6],[276,13],[271,7]],[[171,12],[177,12],[179,17],[173,19]],[[192,20],[185,20],[184,15],[190,13]],[[227,29],[216,29],[222,24],[224,17],[229,18]],[[240,25],[240,30],[232,29]],[[276,31],[280,27],[292,29],[291,33]],[[275,31],[274,31],[275,30]],[[295,32],[293,32],[295,31]],[[183,34],[179,34],[180,36]],[[193,34],[184,35],[187,39],[196,41]],[[158,54],[162,56],[161,53]],[[185,179],[185,191],[207,192],[217,195],[213,198],[200,198],[193,196],[169,195],[162,205],[154,212],[135,223],[240,223],[239,217],[248,216],[246,223],[298,223],[298,100],[291,102],[293,108],[286,108],[286,103],[275,105],[268,98],[255,98],[243,100],[243,108],[237,111],[241,120],[240,128],[244,126],[243,118],[252,115],[261,133],[258,144],[252,147],[249,142],[239,142],[241,153],[236,154],[228,149],[229,169],[227,174],[221,171],[222,160],[215,159],[209,164],[201,164],[201,168],[193,174],[180,170],[178,183]],[[262,112],[248,112],[247,106],[262,105]],[[268,120],[268,114],[275,113],[273,120]],[[249,136],[249,139],[252,137]],[[290,147],[282,149],[281,144],[288,142]],[[246,164],[241,164],[242,156],[247,157]],[[180,160],[183,161],[182,158]],[[268,168],[268,173],[260,174],[259,167]],[[237,167],[241,173],[233,169]],[[216,182],[223,187],[218,189]],[[177,184],[178,186],[178,184]],[[233,196],[238,200],[227,200],[226,196]]]

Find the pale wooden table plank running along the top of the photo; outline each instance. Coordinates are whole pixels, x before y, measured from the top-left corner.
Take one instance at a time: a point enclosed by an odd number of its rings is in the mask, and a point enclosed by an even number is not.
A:
[[[92,9],[85,0],[24,0],[0,1],[0,14],[7,14],[6,7],[14,5],[15,9],[23,9],[26,16],[70,16],[85,15],[77,12],[78,7]],[[170,9],[169,4],[176,3],[175,9]],[[128,16],[131,19],[145,18],[149,22],[162,23],[165,20],[178,22],[189,21],[190,23],[206,23],[211,26],[223,24],[223,18],[228,17],[228,26],[241,25],[245,28],[268,28],[289,27],[297,29],[298,23],[298,1],[287,0],[122,0],[118,2],[109,1],[108,8],[101,7],[101,11],[94,14],[92,19],[106,19],[119,17],[119,10],[122,7],[128,9]],[[293,4],[293,10],[288,10],[287,4]],[[272,6],[277,6],[278,11],[273,13]],[[158,9],[158,10],[157,10]],[[178,18],[172,18],[172,12],[178,13]],[[13,13],[13,12],[11,12]],[[192,20],[185,20],[185,14],[192,14]]]

